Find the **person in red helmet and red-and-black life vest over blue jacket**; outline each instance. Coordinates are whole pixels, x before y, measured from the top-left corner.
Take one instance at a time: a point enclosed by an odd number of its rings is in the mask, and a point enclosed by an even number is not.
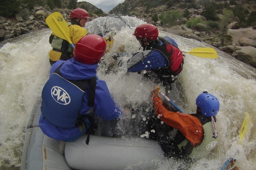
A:
[[[181,75],[183,53],[173,39],[158,34],[158,28],[152,24],[141,24],[135,28],[133,35],[143,51],[134,53],[129,59],[128,72],[146,70],[144,77],[160,81],[171,89],[171,83]]]

